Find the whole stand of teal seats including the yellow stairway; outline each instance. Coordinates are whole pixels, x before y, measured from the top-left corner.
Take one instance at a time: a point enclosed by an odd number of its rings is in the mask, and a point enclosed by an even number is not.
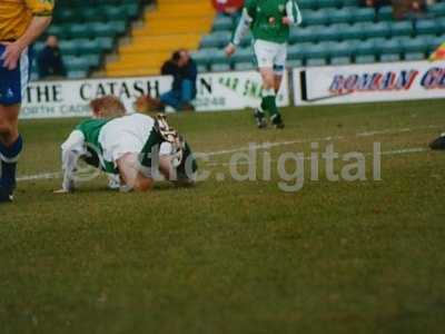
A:
[[[56,35],[68,78],[105,69],[110,77],[158,75],[174,50],[187,48],[199,71],[253,69],[251,37],[227,59],[222,48],[236,22],[217,16],[210,0],[59,1],[47,35]],[[445,41],[445,2],[427,8],[418,20],[395,20],[393,8],[362,8],[359,0],[300,0],[304,24],[290,32],[289,66],[421,60]],[[136,28],[132,22],[144,19]],[[43,36],[34,50],[43,47]],[[130,37],[118,46],[118,38]],[[117,57],[106,63],[106,56]],[[37,77],[33,69],[32,78]]]

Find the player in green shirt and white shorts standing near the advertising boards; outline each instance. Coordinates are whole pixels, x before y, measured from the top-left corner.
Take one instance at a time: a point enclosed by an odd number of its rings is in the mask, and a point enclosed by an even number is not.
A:
[[[263,100],[255,110],[259,128],[267,126],[265,111],[276,128],[284,128],[276,105],[276,95],[283,81],[287,58],[289,28],[301,23],[301,13],[295,0],[246,0],[241,19],[236,28],[226,53],[231,56],[241,38],[250,29],[254,51],[263,78]]]

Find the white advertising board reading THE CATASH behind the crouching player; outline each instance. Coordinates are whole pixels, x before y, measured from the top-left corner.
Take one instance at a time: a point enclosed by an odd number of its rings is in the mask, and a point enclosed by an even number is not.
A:
[[[20,117],[89,116],[89,101],[105,95],[119,97],[131,110],[139,96],[159,97],[170,90],[171,82],[171,77],[34,81],[27,88]],[[243,109],[258,106],[261,80],[256,71],[202,73],[198,76],[197,89],[194,102],[197,111]],[[278,105],[289,105],[287,76],[278,95]]]

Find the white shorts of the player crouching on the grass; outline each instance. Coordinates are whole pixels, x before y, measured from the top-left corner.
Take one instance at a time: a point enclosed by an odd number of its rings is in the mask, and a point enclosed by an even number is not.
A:
[[[110,120],[99,135],[99,144],[106,161],[116,163],[126,154],[140,154],[155,120],[146,115],[132,114]]]

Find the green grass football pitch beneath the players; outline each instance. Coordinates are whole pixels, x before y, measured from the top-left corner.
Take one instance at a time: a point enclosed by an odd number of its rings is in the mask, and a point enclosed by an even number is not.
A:
[[[169,116],[208,154],[206,180],[119,194],[97,177],[70,195],[52,190],[79,119],[22,121],[21,180],[0,206],[0,333],[443,333],[445,153],[427,145],[445,100],[284,118],[258,130],[246,110]],[[332,180],[323,159],[315,179],[310,154],[328,146],[337,175],[362,154],[362,179]],[[304,183],[285,191],[293,154]]]

